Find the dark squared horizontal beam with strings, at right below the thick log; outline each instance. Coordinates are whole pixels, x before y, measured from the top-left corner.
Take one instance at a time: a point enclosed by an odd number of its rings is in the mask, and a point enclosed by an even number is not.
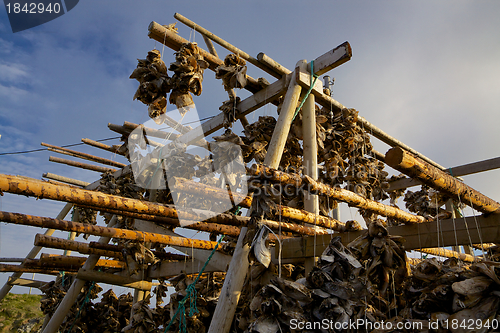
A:
[[[476,224],[477,222],[477,224]],[[469,216],[387,228],[390,235],[405,238],[405,250],[435,248],[454,245],[500,242],[500,215]],[[350,231],[328,236],[292,238],[283,241],[282,258],[319,256],[334,236],[342,237],[344,245],[349,244],[366,231]],[[456,235],[456,238],[455,238]],[[470,237],[470,238],[469,238]]]

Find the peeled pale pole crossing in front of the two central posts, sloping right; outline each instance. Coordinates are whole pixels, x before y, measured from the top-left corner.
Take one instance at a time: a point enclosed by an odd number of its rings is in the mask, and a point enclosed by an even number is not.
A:
[[[307,192],[326,195],[335,200],[346,202],[350,206],[366,209],[379,215],[391,217],[405,223],[422,223],[426,221],[423,216],[413,215],[399,208],[366,199],[354,192],[317,182],[308,176],[301,177],[297,174],[289,174],[267,168],[263,165],[255,164],[250,168],[248,173],[264,177],[274,182],[280,182],[281,184],[290,184],[296,187],[301,187]]]

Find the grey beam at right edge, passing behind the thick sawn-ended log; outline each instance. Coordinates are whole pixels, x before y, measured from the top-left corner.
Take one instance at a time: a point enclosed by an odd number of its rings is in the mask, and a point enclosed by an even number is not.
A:
[[[453,177],[460,177],[465,175],[471,175],[474,173],[489,171],[500,168],[500,157],[491,158],[484,161],[464,164],[456,166],[453,168],[445,169],[446,173],[449,173]],[[421,185],[422,182],[418,179],[413,178],[402,178],[392,182],[389,182],[388,191],[399,190],[402,188],[408,188],[411,186]]]

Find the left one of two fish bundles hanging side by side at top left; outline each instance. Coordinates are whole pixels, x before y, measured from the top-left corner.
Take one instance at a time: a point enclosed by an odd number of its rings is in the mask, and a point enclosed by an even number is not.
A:
[[[134,100],[148,105],[149,116],[156,118],[164,114],[167,108],[166,96],[171,89],[167,66],[158,50],[149,51],[146,59],[138,61],[137,68],[130,75],[131,79],[139,81]]]

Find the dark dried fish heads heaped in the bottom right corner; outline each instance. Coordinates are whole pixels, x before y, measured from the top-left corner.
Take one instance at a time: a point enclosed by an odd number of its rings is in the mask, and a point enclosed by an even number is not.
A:
[[[494,262],[423,260],[414,267],[403,288],[406,306],[400,316],[430,321],[435,324],[432,327],[435,332],[497,331],[495,322],[500,319],[497,272],[498,264]],[[457,325],[451,327],[451,323]]]

